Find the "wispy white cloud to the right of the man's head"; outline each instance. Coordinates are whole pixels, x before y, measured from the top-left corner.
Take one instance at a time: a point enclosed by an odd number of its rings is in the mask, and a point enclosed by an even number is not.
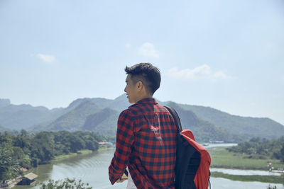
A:
[[[227,76],[224,71],[212,72],[212,69],[207,64],[203,64],[194,69],[178,69],[174,67],[168,70],[168,76],[183,81],[219,81],[231,78],[231,76]]]

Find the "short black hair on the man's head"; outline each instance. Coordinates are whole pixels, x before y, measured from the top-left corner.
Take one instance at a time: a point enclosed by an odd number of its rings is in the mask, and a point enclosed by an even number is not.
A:
[[[134,84],[142,81],[144,86],[146,86],[146,91],[151,93],[151,95],[160,87],[160,70],[151,63],[139,63],[132,67],[126,66],[124,70],[126,74],[131,75],[131,80]]]

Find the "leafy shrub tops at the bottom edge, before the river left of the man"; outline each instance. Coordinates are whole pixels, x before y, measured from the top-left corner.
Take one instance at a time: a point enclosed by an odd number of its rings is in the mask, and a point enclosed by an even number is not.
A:
[[[40,183],[40,189],[92,189],[88,183],[82,183],[81,180],[76,181],[74,179],[65,178],[64,181],[49,180],[48,183]]]

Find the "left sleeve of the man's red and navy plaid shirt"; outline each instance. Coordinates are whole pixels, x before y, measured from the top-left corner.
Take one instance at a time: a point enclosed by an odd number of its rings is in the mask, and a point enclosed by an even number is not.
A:
[[[109,165],[109,181],[113,185],[124,173],[129,161],[131,145],[133,144],[133,116],[129,110],[124,110],[119,115],[116,130],[116,150]]]

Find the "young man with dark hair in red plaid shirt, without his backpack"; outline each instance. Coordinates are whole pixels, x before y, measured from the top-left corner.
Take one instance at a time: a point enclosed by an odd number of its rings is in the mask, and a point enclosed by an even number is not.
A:
[[[160,71],[149,63],[125,71],[124,91],[133,105],[119,115],[109,180],[124,181],[127,166],[127,188],[175,188],[177,128],[168,110],[153,98],[160,87]]]

